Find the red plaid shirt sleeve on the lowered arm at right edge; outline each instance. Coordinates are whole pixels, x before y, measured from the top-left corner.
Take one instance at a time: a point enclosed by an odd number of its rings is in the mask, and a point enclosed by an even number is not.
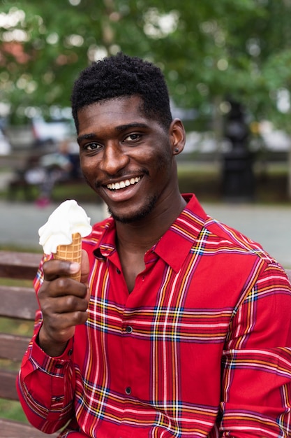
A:
[[[289,437],[291,288],[278,265],[252,273],[223,352],[221,437]]]

